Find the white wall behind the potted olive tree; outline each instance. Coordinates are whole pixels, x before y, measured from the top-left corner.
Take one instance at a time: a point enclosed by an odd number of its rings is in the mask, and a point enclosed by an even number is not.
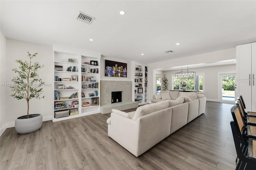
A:
[[[2,37],[2,36],[1,36]],[[2,38],[1,38],[2,40]],[[15,62],[16,59],[27,60],[27,51],[38,55],[32,59],[32,62],[39,62],[44,65],[44,68],[39,69],[38,73],[40,78],[45,83],[53,84],[52,70],[53,70],[53,51],[52,47],[49,45],[38,45],[35,43],[22,42],[18,40],[6,39],[6,66],[1,65],[1,74],[6,74],[5,83],[12,83],[12,77],[17,74],[12,71],[13,68],[18,67],[18,63]],[[2,53],[2,45],[1,45]],[[2,55],[1,55],[2,59]],[[1,90],[2,91],[2,90]],[[17,100],[10,95],[12,91],[10,87],[4,87],[6,95],[4,95],[4,102],[1,102],[6,106],[6,112],[1,113],[1,129],[14,127],[14,121],[17,117],[26,115],[27,105],[26,100]],[[52,108],[53,108],[53,87],[43,87],[44,99],[31,99],[30,101],[30,114],[40,113],[43,116],[43,121],[52,120]],[[1,107],[2,108],[2,107]]]

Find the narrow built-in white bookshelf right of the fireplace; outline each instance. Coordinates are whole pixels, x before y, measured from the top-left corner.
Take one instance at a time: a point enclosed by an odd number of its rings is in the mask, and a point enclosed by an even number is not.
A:
[[[132,61],[132,101],[138,102],[138,105],[148,103],[148,67]]]

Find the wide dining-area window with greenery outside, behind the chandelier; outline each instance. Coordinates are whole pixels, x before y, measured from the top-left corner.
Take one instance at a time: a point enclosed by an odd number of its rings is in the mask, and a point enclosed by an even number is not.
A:
[[[173,89],[182,90],[182,86],[186,87],[186,90],[203,91],[203,76],[197,75],[195,79],[177,79],[173,77]]]

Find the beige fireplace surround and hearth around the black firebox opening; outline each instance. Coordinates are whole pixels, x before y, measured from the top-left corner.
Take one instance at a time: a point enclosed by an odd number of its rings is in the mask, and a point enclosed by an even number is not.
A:
[[[122,91],[122,102],[111,104],[112,91]],[[138,103],[132,101],[132,81],[100,81],[100,93],[100,113],[138,107]]]

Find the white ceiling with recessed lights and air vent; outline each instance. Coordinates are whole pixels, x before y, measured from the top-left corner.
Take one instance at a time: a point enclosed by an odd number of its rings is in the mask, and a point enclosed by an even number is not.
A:
[[[6,38],[126,61],[154,63],[256,42],[255,0],[1,0],[0,8]],[[78,11],[96,19],[76,20]]]

